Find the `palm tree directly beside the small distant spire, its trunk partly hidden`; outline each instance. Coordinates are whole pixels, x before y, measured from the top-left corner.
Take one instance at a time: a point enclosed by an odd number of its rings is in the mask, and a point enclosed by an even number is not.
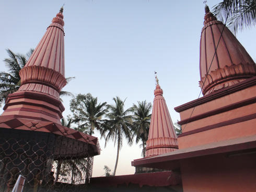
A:
[[[133,136],[136,136],[136,143],[142,141],[142,154],[145,158],[146,141],[148,138],[149,124],[151,118],[152,104],[146,101],[139,102],[138,105],[133,104]]]

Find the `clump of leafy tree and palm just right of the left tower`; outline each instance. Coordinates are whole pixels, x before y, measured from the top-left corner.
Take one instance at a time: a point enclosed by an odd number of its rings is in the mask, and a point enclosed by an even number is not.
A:
[[[70,109],[74,115],[74,121],[78,129],[92,135],[94,129],[101,130],[104,120],[102,116],[107,113],[107,102],[99,103],[98,98],[92,97],[90,93],[78,94],[70,102]]]

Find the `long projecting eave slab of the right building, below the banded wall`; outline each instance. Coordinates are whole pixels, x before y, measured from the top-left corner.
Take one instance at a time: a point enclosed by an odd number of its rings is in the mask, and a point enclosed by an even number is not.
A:
[[[228,153],[256,148],[256,136],[251,135],[236,139],[228,139],[207,143],[205,145],[179,149],[156,157],[136,159],[132,161],[135,167],[152,167],[155,169],[175,170],[180,167],[180,160],[204,155]]]

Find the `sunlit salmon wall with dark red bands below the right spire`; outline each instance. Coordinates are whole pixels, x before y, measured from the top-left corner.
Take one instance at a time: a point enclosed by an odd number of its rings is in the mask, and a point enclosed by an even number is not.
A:
[[[256,135],[256,86],[202,103],[195,107],[191,120],[182,125],[179,149],[228,139]],[[191,108],[180,112],[186,122]]]

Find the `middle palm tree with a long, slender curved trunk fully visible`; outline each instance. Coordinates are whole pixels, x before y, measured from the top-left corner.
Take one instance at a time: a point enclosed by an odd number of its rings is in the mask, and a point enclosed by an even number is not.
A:
[[[111,139],[114,141],[114,145],[118,146],[117,160],[115,161],[113,176],[117,171],[119,151],[123,145],[123,139],[126,138],[129,145],[132,145],[132,109],[124,110],[124,101],[119,97],[113,98],[115,104],[107,105],[109,113],[106,114],[108,119],[105,121],[104,129],[101,131],[101,137],[105,137],[105,147],[107,142]]]

